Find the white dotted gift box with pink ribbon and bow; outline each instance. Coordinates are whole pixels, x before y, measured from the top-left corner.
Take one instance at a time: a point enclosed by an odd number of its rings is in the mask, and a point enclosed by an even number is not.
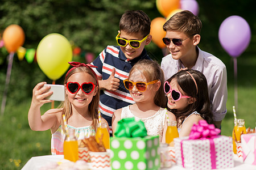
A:
[[[219,133],[220,129],[200,120],[189,137],[175,138],[177,165],[198,170],[234,167],[232,138]]]

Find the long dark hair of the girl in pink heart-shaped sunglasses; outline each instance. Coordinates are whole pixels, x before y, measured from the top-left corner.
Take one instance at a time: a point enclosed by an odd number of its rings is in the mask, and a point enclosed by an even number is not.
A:
[[[193,81],[191,75],[196,80],[198,92],[196,91],[196,85]],[[201,117],[208,122],[208,124],[213,124],[213,113],[210,108],[210,99],[208,94],[207,79],[204,74],[197,70],[181,70],[178,73],[174,74],[167,81],[170,83],[172,79],[177,80],[177,87],[180,91],[183,91],[186,96],[195,97],[196,101],[192,104],[189,104],[183,111],[177,111],[176,109],[170,109],[172,113],[175,114],[177,122],[182,122],[185,118],[197,111]]]

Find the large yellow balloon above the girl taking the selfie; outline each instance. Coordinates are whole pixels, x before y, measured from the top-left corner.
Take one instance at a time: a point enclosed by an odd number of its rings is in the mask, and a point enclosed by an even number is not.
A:
[[[72,48],[69,41],[58,33],[45,36],[36,50],[38,65],[51,80],[59,79],[72,61]]]

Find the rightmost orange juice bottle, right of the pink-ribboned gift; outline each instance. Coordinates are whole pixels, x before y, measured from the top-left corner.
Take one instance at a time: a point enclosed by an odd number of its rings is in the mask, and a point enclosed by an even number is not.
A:
[[[236,142],[241,142],[241,134],[246,134],[245,120],[238,119],[237,126],[236,124],[234,125],[234,130],[232,133],[234,154],[237,154]]]

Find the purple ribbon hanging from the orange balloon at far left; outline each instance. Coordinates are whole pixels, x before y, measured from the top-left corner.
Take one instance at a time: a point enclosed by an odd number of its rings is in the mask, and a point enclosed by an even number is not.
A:
[[[6,79],[5,79],[5,90],[3,91],[3,99],[2,99],[2,105],[1,105],[1,115],[3,115],[3,113],[5,112],[7,91],[8,91],[8,86],[9,86],[10,77],[11,77],[11,68],[13,67],[13,56],[14,56],[14,53],[11,52],[9,54],[9,61],[8,61]]]

